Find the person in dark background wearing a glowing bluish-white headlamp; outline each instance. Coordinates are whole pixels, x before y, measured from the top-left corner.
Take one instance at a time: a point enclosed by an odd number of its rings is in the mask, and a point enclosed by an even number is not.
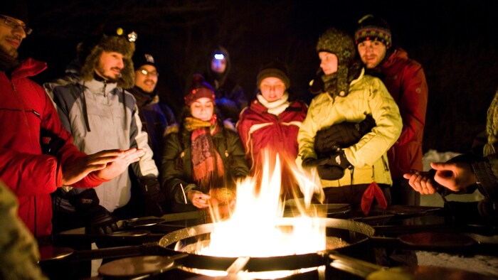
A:
[[[208,70],[204,77],[215,90],[216,107],[221,117],[236,124],[240,111],[248,106],[248,97],[243,88],[229,76],[231,68],[228,50],[218,46],[209,57]]]

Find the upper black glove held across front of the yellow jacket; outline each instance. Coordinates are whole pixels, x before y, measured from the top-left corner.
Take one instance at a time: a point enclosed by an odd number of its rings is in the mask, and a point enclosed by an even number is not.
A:
[[[337,151],[339,148],[346,148],[358,141],[365,134],[369,133],[375,120],[371,114],[367,114],[365,119],[359,123],[341,122],[334,124],[327,129],[317,132],[314,138],[314,150],[317,154],[324,154]]]

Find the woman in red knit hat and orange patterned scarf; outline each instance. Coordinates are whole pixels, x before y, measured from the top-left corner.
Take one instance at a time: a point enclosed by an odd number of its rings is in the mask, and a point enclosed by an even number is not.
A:
[[[208,208],[235,198],[235,181],[249,168],[233,126],[215,114],[215,95],[201,75],[185,96],[179,131],[166,135],[161,180],[173,212]]]

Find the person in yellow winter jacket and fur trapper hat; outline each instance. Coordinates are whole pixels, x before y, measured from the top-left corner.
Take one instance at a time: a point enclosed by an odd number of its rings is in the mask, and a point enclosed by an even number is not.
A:
[[[386,152],[401,132],[401,116],[382,81],[364,75],[356,55],[353,38],[344,31],[330,28],[317,43],[320,58],[319,77],[312,81],[312,91],[319,92],[309,105],[297,142],[297,163],[316,170],[322,181],[327,203],[361,204],[368,212],[373,196],[384,207],[391,186]],[[358,124],[371,115],[375,126],[358,141],[342,141],[317,146],[317,132],[339,124]],[[377,185],[378,184],[378,185]],[[380,186],[380,188],[379,188]]]

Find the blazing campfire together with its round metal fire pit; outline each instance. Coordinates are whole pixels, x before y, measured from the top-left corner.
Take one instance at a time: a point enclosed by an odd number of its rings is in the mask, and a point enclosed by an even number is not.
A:
[[[284,217],[280,170],[278,157],[275,166],[265,161],[260,180],[250,178],[238,184],[228,219],[171,232],[161,239],[161,246],[174,244],[176,252],[190,254],[196,265],[182,269],[196,274],[275,279],[324,270],[326,262],[317,253],[347,247],[373,234],[371,227],[361,223],[327,218],[326,212],[315,211],[311,200],[312,195],[322,194],[319,180],[295,167],[292,173],[304,198],[292,203],[297,209],[293,217]],[[219,217],[216,209],[212,211]],[[197,241],[192,242],[192,237]],[[209,265],[203,267],[205,263]]]

